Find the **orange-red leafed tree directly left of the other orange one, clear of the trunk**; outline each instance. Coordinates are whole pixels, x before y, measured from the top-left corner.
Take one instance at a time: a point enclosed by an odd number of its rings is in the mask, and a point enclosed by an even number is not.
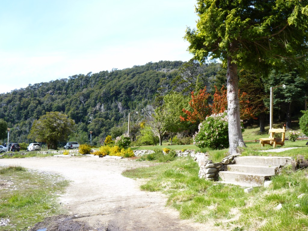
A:
[[[180,116],[181,121],[196,123],[205,120],[206,116],[211,115],[212,110],[208,102],[209,97],[210,94],[206,92],[206,87],[200,90],[197,95],[194,95],[192,91],[191,100],[189,101],[189,106],[192,110],[183,108],[186,116]]]

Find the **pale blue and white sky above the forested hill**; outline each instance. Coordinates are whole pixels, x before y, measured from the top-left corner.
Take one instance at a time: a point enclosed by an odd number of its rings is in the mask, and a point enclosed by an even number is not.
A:
[[[0,93],[160,60],[188,61],[196,0],[2,0]]]

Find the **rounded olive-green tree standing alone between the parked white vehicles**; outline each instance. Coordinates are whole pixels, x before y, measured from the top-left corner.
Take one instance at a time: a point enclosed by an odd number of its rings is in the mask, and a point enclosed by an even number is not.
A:
[[[39,120],[34,120],[29,139],[44,142],[48,149],[57,149],[58,143],[66,141],[73,132],[75,122],[61,112],[47,112]]]

